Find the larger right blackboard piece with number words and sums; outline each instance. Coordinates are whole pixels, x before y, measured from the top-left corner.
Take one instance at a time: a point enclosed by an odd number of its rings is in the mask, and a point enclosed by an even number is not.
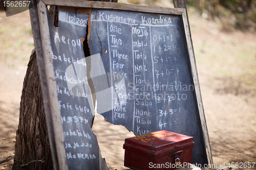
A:
[[[111,110],[104,110],[107,100],[97,102],[97,112],[135,135],[167,130],[193,136],[192,163],[204,164],[181,17],[93,9],[89,47],[92,55],[100,53],[105,72],[112,73],[106,84],[114,86]],[[96,81],[97,88],[104,79]],[[96,101],[101,96],[96,93]]]

